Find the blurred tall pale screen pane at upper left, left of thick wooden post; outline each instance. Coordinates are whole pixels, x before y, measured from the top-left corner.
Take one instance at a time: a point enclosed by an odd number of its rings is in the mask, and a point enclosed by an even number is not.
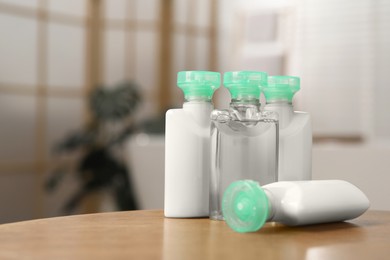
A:
[[[81,88],[85,84],[85,30],[48,25],[48,84]]]

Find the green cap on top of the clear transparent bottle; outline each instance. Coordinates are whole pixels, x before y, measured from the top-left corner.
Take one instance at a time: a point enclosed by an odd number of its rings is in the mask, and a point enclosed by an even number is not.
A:
[[[261,88],[267,85],[267,77],[268,74],[261,71],[232,71],[225,73],[223,84],[232,99],[259,99]]]

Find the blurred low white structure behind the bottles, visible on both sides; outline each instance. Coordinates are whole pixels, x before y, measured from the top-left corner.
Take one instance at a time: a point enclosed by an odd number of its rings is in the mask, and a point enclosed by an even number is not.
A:
[[[142,209],[164,206],[164,136],[140,134],[127,145],[128,163]],[[359,187],[371,209],[390,210],[387,145],[321,144],[313,147],[313,179],[340,179]],[[332,191],[329,191],[332,192]]]

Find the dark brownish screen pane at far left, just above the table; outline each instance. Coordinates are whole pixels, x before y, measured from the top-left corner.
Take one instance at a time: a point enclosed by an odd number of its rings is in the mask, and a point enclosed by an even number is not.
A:
[[[0,224],[35,217],[35,178],[32,172],[0,174]]]

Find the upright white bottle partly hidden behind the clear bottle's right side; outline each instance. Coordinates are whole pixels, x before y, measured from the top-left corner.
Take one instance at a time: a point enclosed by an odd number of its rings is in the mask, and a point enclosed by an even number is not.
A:
[[[294,111],[292,105],[299,88],[299,78],[291,76],[269,76],[268,85],[263,88],[264,110],[279,116],[279,181],[311,179],[310,114]]]

